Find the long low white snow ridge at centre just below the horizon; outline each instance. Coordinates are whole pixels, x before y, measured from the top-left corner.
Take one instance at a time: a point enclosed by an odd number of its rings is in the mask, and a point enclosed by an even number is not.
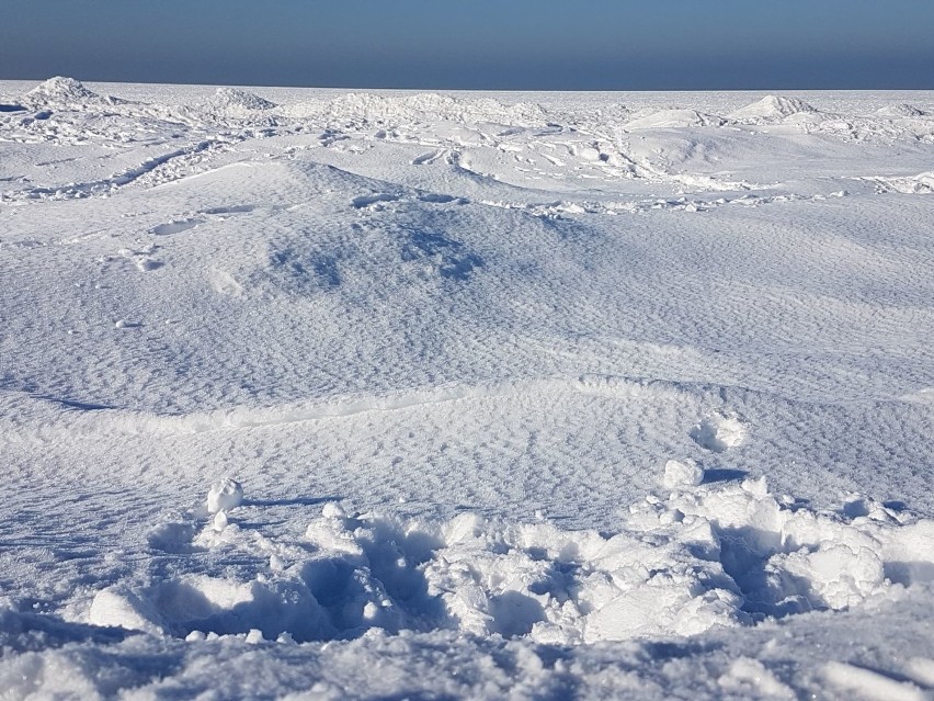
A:
[[[287,111],[292,116],[324,115],[377,122],[474,122],[535,126],[547,121],[537,104],[504,104],[491,98],[465,99],[426,92],[406,97],[348,93],[323,103],[301,103]]]

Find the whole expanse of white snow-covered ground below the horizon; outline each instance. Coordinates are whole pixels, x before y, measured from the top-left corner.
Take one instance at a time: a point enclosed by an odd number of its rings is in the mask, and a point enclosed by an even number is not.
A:
[[[931,92],[0,83],[0,699],[934,698],[932,193]]]

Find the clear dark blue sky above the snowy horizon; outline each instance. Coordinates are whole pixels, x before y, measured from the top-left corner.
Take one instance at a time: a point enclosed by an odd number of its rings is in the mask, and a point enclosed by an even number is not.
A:
[[[934,0],[0,0],[0,79],[934,89]]]

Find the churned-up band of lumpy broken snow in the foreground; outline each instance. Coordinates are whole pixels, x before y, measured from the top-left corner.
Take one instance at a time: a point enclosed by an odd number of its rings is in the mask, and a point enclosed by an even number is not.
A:
[[[332,640],[376,627],[578,644],[843,610],[934,578],[934,521],[859,497],[816,512],[771,494],[764,478],[705,485],[693,463],[664,472],[674,491],[630,507],[614,535],[477,513],[349,516],[327,504],[304,538],[273,539],[237,524],[238,494],[201,532],[163,523],[150,543],[265,559],[255,579],[193,566],[116,584],[96,595],[88,621],[195,638]]]

